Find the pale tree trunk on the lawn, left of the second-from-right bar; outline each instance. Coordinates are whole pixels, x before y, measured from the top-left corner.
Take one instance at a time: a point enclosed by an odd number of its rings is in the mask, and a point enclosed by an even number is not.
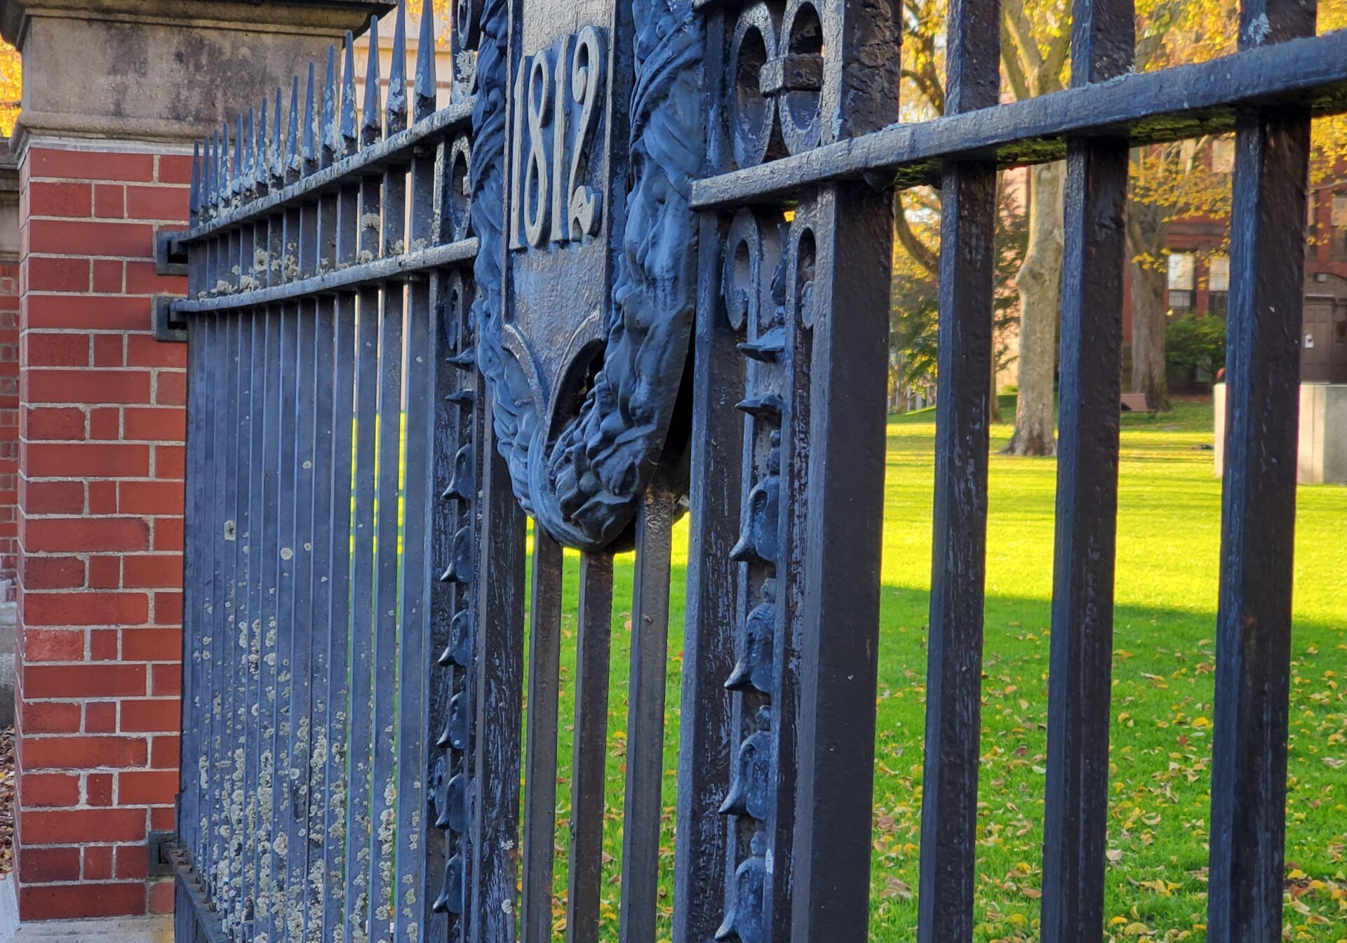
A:
[[[1029,248],[1020,290],[1020,399],[1008,455],[1057,451],[1053,379],[1061,315],[1061,163],[1034,167],[1029,187]]]

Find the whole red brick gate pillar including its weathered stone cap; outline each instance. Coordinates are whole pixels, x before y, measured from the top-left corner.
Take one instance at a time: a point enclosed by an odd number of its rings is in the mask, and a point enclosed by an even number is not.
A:
[[[23,54],[16,857],[20,917],[172,908],[186,349],[155,339],[155,240],[190,141],[260,102],[374,0],[0,0]],[[4,287],[0,260],[0,295]],[[4,485],[0,300],[0,501]],[[0,504],[0,550],[4,540]],[[3,566],[3,563],[0,563]],[[207,709],[190,706],[189,715]]]

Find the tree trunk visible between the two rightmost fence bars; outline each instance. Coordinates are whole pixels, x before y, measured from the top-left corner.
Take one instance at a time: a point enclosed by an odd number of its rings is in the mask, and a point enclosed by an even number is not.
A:
[[[1131,391],[1146,395],[1150,410],[1169,408],[1165,373],[1165,313],[1169,278],[1164,265],[1169,207],[1127,201],[1127,242],[1131,252]]]

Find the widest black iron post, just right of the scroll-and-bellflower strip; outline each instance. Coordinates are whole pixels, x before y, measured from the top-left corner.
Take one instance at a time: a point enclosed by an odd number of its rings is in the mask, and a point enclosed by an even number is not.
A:
[[[832,12],[824,141],[898,120],[901,4]],[[795,525],[792,551],[803,555],[804,593],[785,606],[797,606],[799,625],[791,934],[859,943],[870,912],[893,205],[865,186],[823,187],[811,240],[795,229],[787,307],[814,337],[808,439],[792,442],[808,450],[807,529]]]

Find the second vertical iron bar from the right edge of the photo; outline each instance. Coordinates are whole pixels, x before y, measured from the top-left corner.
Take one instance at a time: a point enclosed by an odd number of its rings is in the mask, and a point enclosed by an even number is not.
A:
[[[1131,0],[1076,0],[1071,84],[1131,67]],[[1127,140],[1068,144],[1044,943],[1103,939]]]

